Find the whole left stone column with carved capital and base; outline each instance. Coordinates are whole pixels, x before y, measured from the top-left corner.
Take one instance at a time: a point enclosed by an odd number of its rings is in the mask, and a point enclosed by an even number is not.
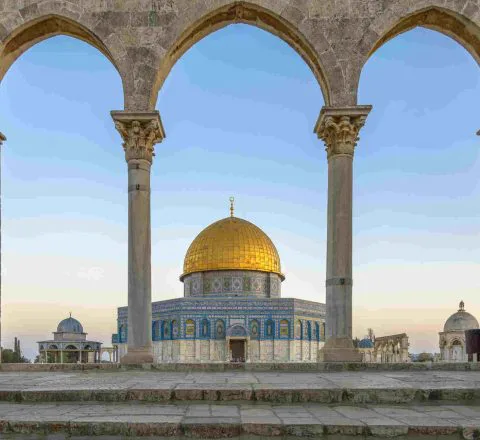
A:
[[[158,112],[114,111],[128,164],[128,335],[124,364],[152,363],[150,167],[165,137]]]

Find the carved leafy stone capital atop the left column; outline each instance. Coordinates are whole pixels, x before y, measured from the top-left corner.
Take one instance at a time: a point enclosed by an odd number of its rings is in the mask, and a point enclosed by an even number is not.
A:
[[[152,162],[155,144],[165,138],[158,111],[148,113],[112,111],[115,128],[123,139],[126,161],[144,159]]]

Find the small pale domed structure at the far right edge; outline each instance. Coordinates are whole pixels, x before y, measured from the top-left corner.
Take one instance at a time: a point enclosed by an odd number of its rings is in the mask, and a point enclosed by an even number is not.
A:
[[[451,315],[440,336],[440,358],[447,362],[468,362],[465,347],[465,330],[477,329],[475,316],[465,311],[465,303],[460,302],[459,309]]]

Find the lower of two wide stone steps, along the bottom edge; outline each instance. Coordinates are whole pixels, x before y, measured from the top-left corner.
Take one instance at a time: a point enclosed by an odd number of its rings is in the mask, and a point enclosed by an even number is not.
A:
[[[480,438],[480,406],[0,403],[0,435],[188,438]]]

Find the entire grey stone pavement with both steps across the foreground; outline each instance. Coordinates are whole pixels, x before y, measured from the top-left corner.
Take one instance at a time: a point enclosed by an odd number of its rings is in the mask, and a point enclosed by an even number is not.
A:
[[[480,371],[0,372],[0,438],[98,435],[480,440]]]

